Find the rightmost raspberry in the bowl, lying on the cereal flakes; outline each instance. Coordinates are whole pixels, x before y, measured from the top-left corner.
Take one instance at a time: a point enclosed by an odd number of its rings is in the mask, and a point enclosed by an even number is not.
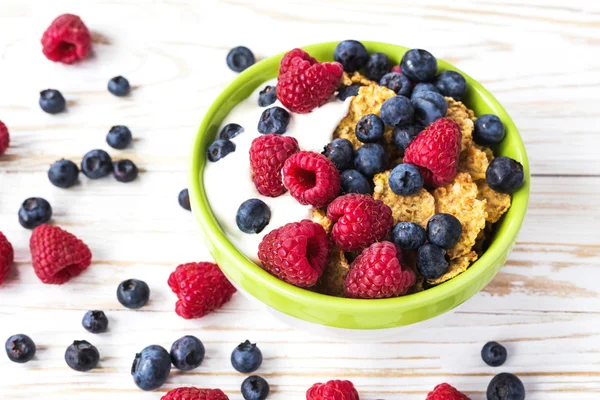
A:
[[[404,162],[419,167],[427,186],[445,186],[458,172],[460,128],[440,118],[417,135],[404,152]]]

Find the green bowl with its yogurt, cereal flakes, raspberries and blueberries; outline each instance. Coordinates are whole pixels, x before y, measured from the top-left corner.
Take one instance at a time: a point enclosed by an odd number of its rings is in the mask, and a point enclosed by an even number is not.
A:
[[[243,71],[200,126],[190,195],[242,293],[352,338],[485,287],[523,223],[529,167],[477,81],[425,50],[346,40]]]

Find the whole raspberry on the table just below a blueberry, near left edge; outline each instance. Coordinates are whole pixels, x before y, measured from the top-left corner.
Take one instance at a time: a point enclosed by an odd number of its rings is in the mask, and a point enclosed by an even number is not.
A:
[[[73,234],[57,226],[40,225],[29,240],[33,270],[47,284],[62,285],[92,263],[92,252]]]

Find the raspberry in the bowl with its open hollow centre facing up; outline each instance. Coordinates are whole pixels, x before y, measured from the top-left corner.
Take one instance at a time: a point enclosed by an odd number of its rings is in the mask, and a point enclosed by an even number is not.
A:
[[[324,155],[296,153],[283,164],[283,183],[300,204],[323,207],[340,192],[341,176]]]

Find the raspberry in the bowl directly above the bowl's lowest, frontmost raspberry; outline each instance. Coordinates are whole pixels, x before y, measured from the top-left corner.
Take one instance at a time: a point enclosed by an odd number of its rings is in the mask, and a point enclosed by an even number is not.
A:
[[[381,200],[357,193],[332,201],[327,216],[335,222],[331,238],[345,251],[362,250],[383,239],[394,223],[392,210]]]

